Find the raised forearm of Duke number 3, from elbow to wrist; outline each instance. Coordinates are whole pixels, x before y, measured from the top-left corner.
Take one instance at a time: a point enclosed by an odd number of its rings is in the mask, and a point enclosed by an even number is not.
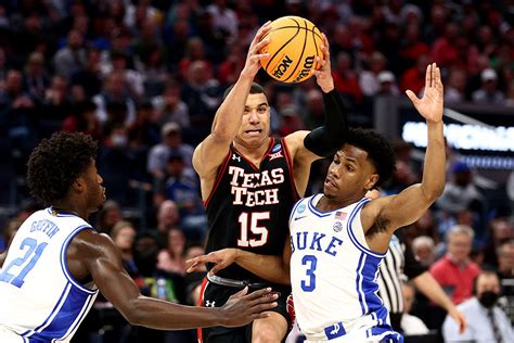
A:
[[[421,183],[424,195],[434,202],[442,194],[446,181],[446,151],[441,122],[427,122],[428,143],[426,147],[423,180]]]

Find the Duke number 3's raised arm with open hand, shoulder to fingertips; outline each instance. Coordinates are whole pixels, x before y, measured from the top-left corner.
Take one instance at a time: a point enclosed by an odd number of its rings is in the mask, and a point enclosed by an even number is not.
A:
[[[411,90],[407,96],[415,109],[426,119],[428,143],[426,147],[423,179],[397,195],[374,200],[364,211],[376,215],[363,216],[364,230],[372,227],[377,219],[383,224],[386,234],[417,220],[436,201],[445,189],[446,154],[442,135],[442,82],[440,69],[435,63],[428,65],[425,77],[425,94],[419,99]],[[369,207],[368,209],[365,209]],[[401,211],[398,211],[398,209]],[[386,251],[388,240],[381,240],[373,249]]]

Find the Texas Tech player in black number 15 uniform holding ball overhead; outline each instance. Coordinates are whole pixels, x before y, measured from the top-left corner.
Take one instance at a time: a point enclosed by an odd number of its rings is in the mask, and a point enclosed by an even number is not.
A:
[[[324,38],[322,66],[313,74],[323,92],[325,125],[296,131],[283,139],[269,137],[270,107],[262,87],[254,84],[260,68],[259,51],[269,43],[265,24],[250,43],[245,66],[216,113],[210,135],[196,148],[193,166],[201,178],[209,233],[207,253],[239,247],[257,254],[281,255],[288,237],[287,220],[304,195],[313,161],[331,156],[347,130],[344,105],[330,69]],[[210,266],[208,266],[210,267]],[[269,284],[235,264],[204,280],[203,306],[221,306],[244,284]],[[204,342],[281,342],[291,325],[286,312],[288,285],[272,284],[279,306],[247,327],[198,330]]]

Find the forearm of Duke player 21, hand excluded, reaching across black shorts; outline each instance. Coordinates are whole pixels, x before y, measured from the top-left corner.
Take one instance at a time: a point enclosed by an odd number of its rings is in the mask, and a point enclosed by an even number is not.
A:
[[[187,330],[223,325],[219,308],[192,307],[140,296],[120,309],[131,323],[157,330]]]

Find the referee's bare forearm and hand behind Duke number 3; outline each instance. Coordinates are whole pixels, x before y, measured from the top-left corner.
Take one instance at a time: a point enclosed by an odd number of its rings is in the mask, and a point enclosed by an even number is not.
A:
[[[448,312],[459,326],[459,333],[463,333],[466,330],[466,318],[461,312],[459,312],[459,309],[457,309],[455,305],[453,305],[440,284],[428,271],[412,279],[412,283],[414,283],[416,289],[425,294],[426,297]]]

